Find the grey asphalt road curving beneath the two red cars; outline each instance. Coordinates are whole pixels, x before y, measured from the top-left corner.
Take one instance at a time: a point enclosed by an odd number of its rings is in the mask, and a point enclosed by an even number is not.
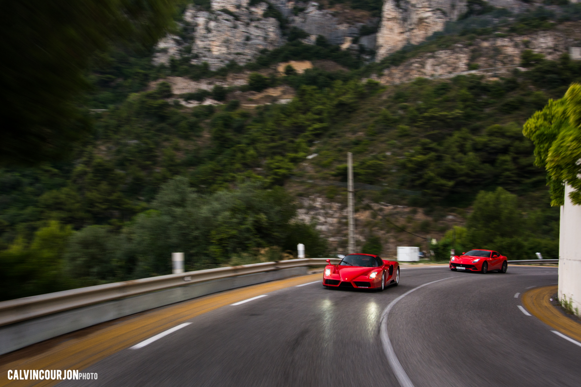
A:
[[[403,296],[382,321],[386,307]],[[59,386],[579,386],[581,347],[519,308],[530,287],[557,283],[556,267],[506,274],[401,270],[383,292],[290,287],[196,316],[139,349]],[[399,378],[385,352],[401,365]]]

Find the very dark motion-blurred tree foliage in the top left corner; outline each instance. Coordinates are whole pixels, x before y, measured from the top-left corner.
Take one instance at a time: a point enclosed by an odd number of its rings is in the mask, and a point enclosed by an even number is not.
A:
[[[175,0],[22,0],[0,16],[0,165],[70,154],[90,129],[79,103],[85,71],[112,43],[150,48],[171,23]]]

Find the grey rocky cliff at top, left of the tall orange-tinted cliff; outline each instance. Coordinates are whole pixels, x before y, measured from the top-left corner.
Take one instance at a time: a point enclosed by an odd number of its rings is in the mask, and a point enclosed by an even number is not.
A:
[[[361,11],[320,10],[316,2],[271,0],[270,4],[282,13],[289,26],[309,34],[303,39],[307,44],[315,44],[317,35],[322,35],[344,49],[356,48],[352,42],[358,37],[360,28],[379,23],[377,18]],[[286,38],[278,20],[263,17],[267,9],[267,2],[250,6],[249,0],[212,0],[209,12],[189,6],[183,20],[185,27],[193,30],[192,63],[207,62],[211,70],[216,70],[232,60],[245,64],[260,50],[283,45]],[[339,17],[335,16],[338,14]],[[361,37],[360,43],[369,49],[375,48],[375,34]],[[180,57],[185,45],[177,35],[168,35],[157,44],[153,63],[169,63],[170,57]]]

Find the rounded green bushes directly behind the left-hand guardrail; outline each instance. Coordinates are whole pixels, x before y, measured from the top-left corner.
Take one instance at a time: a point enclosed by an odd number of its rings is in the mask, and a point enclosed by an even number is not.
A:
[[[311,225],[295,223],[295,204],[281,187],[243,183],[202,195],[185,178],[169,180],[151,209],[122,229],[92,225],[73,232],[55,220],[28,244],[0,252],[0,300],[171,272],[171,252],[183,251],[186,269],[283,258],[296,244],[321,256],[326,241]]]

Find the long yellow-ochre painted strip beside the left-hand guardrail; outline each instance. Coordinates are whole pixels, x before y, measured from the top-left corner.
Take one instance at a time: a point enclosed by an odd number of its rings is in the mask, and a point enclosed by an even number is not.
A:
[[[52,386],[57,380],[9,380],[8,370],[83,370],[105,357],[211,310],[321,279],[321,273],[271,281],[107,321],[0,356],[0,386]],[[96,328],[96,330],[95,330]],[[56,339],[56,340],[55,340]],[[66,340],[59,342],[59,340]],[[47,348],[48,347],[48,348]]]

